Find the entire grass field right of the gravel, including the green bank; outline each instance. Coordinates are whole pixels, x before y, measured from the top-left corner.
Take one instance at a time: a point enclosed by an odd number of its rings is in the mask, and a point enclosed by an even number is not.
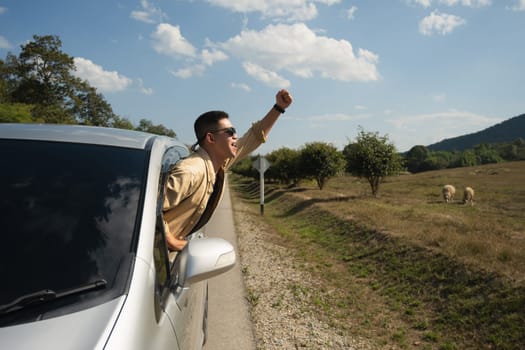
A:
[[[258,184],[232,182],[256,212]],[[378,198],[354,177],[266,190],[264,220],[318,279],[312,305],[341,332],[385,349],[525,348],[525,162],[392,177]]]

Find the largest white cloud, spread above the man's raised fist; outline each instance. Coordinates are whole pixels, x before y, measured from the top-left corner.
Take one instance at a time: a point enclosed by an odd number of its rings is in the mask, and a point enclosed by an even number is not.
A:
[[[244,30],[217,46],[249,62],[249,67],[260,67],[257,71],[264,70],[262,76],[272,75],[282,79],[277,72],[284,70],[302,78],[320,76],[341,81],[379,79],[377,55],[363,49],[354,54],[350,42],[318,36],[302,23],[270,25],[262,31]],[[254,70],[250,70],[251,74],[259,76],[254,74]]]

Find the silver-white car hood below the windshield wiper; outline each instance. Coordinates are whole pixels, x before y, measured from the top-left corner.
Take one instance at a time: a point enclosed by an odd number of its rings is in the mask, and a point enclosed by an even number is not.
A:
[[[0,328],[0,349],[96,349],[108,338],[124,296],[47,320]]]

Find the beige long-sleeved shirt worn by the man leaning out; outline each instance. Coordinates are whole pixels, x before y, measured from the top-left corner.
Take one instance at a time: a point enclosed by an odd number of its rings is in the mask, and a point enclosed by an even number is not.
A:
[[[261,122],[253,123],[251,128],[237,140],[237,155],[227,159],[222,170],[227,171],[235,162],[249,155],[265,141],[266,135],[261,128]],[[167,234],[175,235],[177,239],[184,239],[193,232],[193,228],[206,210],[208,200],[213,193],[215,179],[213,163],[202,148],[173,167],[164,189],[163,212]],[[221,176],[221,183],[217,185],[219,193],[215,203],[212,203],[213,207],[209,209],[211,212],[222,194],[223,176]]]

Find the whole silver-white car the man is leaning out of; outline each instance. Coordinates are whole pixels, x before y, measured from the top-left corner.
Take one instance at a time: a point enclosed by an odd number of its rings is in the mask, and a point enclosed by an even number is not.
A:
[[[193,234],[173,262],[158,135],[0,124],[0,349],[200,349],[207,281],[233,246]]]

